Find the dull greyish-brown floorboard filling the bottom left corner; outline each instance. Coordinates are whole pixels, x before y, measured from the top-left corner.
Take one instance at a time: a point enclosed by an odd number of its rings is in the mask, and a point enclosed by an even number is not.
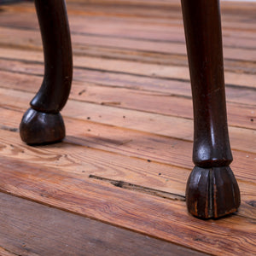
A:
[[[206,255],[3,193],[0,206],[3,256]]]

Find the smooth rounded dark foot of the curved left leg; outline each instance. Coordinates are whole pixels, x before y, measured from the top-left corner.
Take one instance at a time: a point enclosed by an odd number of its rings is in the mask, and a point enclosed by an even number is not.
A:
[[[20,123],[20,137],[30,145],[61,141],[65,137],[61,113],[43,113],[29,108]]]

